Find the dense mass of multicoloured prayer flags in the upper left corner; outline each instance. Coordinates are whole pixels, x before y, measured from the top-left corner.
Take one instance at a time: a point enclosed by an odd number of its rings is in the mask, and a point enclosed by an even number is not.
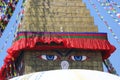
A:
[[[0,37],[5,30],[18,0],[1,0],[0,2]]]

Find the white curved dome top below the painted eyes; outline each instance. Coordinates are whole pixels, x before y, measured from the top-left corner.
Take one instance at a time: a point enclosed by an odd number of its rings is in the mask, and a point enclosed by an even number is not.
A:
[[[26,74],[10,80],[120,80],[120,77],[101,71],[65,69]]]

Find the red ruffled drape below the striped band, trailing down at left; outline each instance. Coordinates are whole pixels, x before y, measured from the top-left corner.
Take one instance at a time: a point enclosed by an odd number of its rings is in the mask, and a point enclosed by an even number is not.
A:
[[[37,43],[44,45],[36,45]],[[52,42],[58,45],[50,45]],[[61,45],[62,43],[62,45]],[[60,44],[60,45],[59,45]],[[7,73],[6,66],[10,62],[17,59],[20,51],[22,50],[51,50],[61,48],[74,48],[81,50],[100,50],[103,52],[103,59],[107,59],[111,53],[115,51],[115,47],[112,46],[106,39],[99,38],[57,38],[57,37],[32,37],[21,38],[13,43],[8,49],[8,55],[4,59],[4,65],[0,69],[0,80],[5,80]],[[4,73],[4,74],[3,74]]]

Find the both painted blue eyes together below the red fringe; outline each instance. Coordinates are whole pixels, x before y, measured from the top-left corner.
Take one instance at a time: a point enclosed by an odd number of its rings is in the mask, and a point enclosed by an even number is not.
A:
[[[37,57],[40,59],[43,59],[43,60],[51,60],[51,61],[60,59],[60,57],[57,55],[39,55]],[[88,59],[88,57],[87,56],[79,56],[79,55],[76,55],[76,56],[71,55],[71,56],[68,56],[68,59],[73,60],[73,61],[85,61]]]

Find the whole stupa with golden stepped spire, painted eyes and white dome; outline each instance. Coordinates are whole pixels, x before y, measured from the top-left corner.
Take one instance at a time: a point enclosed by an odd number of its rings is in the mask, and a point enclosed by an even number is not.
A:
[[[82,0],[26,0],[0,80],[120,80],[103,72],[115,47]]]

